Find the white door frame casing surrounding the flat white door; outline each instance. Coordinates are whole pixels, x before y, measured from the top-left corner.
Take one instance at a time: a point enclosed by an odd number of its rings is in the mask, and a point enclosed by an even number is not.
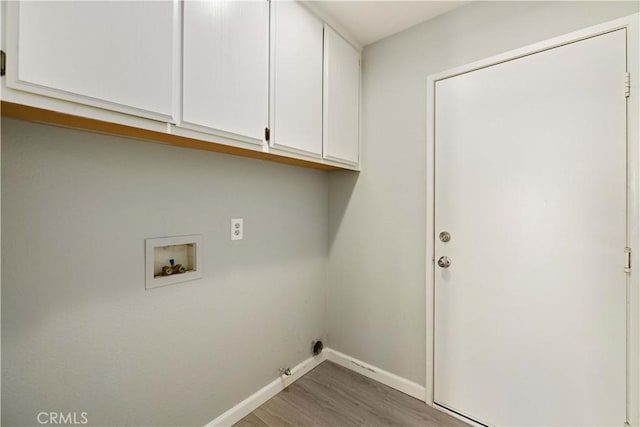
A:
[[[627,99],[627,242],[632,248],[631,273],[627,276],[627,421],[640,426],[640,130],[638,52],[640,13],[574,31],[539,43],[511,50],[480,61],[452,68],[427,77],[427,218],[426,218],[426,381],[425,402],[434,406],[434,313],[435,313],[435,85],[438,81],[487,68],[503,62],[533,55],[611,31],[626,29],[627,71],[631,76],[631,93]],[[622,81],[622,78],[621,78]],[[621,85],[620,91],[623,93]],[[623,269],[624,248],[620,248]],[[635,267],[638,266],[638,267]],[[436,406],[466,422],[468,419]],[[473,425],[473,423],[472,423]]]

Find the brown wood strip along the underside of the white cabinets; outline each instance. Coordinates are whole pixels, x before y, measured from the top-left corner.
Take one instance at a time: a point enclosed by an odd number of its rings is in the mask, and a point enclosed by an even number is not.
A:
[[[12,117],[36,123],[44,123],[54,126],[62,126],[73,129],[82,129],[90,132],[103,133],[108,135],[122,136],[126,138],[141,139],[155,142],[157,144],[174,145],[177,147],[195,148],[197,150],[214,151],[216,153],[231,154],[234,156],[249,157],[258,160],[269,160],[277,163],[284,163],[293,166],[301,166],[321,170],[340,170],[341,168],[332,165],[314,163],[306,160],[294,159],[279,156],[262,151],[249,150],[245,148],[232,147],[215,142],[201,141],[194,138],[173,135],[170,133],[157,132],[153,130],[140,129],[133,126],[120,125],[117,123],[105,122],[102,120],[89,119],[86,117],[74,116],[71,114],[59,113],[37,107],[16,104],[2,101],[0,103],[2,117]]]

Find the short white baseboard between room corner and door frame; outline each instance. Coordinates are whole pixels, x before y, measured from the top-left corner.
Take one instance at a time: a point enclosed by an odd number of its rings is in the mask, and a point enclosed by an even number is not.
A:
[[[365,377],[371,378],[381,382],[384,385],[388,385],[391,388],[395,388],[411,397],[415,397],[418,400],[425,401],[426,389],[420,384],[409,381],[406,378],[402,378],[396,374],[385,371],[384,369],[377,368],[369,365],[366,362],[347,356],[333,349],[325,349],[323,354],[326,354],[327,360],[337,363],[340,366],[344,366],[347,369],[351,369]]]

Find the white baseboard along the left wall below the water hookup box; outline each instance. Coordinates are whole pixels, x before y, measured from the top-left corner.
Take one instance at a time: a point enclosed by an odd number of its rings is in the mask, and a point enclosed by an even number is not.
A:
[[[229,409],[213,421],[209,422],[205,427],[231,426],[237,423],[238,421],[249,415],[252,411],[257,409],[260,405],[265,403],[267,400],[271,399],[273,396],[287,388],[289,385],[291,385],[291,383],[300,379],[300,377],[302,377],[304,374],[318,366],[320,363],[324,362],[325,359],[326,357],[323,352],[320,356],[310,357],[307,360],[299,363],[291,369],[290,376],[285,377],[281,375],[266,386],[262,387],[257,392],[253,393],[251,396],[247,397],[242,402],[238,403],[233,408]]]

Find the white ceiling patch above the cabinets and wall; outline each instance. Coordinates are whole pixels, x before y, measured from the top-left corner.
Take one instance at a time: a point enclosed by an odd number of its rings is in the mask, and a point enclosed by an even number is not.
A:
[[[366,46],[469,1],[324,0],[312,3]]]

